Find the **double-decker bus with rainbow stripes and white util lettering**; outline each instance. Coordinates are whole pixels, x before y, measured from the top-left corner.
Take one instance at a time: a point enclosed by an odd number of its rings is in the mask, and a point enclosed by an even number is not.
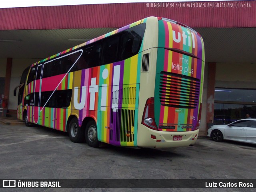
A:
[[[188,146],[198,137],[203,76],[200,34],[148,17],[26,68],[17,117],[92,147]]]

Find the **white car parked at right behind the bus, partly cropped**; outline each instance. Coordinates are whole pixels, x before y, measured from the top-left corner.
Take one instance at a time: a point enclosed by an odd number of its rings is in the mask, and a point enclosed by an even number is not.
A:
[[[223,139],[256,144],[256,119],[241,119],[228,125],[214,125],[208,136],[216,142]]]

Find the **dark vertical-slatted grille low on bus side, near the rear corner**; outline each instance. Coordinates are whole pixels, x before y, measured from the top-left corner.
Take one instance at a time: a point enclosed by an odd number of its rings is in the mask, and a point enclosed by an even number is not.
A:
[[[135,110],[118,109],[116,111],[116,141],[134,141],[134,115]]]

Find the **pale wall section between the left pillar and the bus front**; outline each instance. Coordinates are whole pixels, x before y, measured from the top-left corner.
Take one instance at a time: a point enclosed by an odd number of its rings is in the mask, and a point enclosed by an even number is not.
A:
[[[13,96],[13,91],[16,86],[20,84],[20,78],[24,69],[34,62],[38,62],[41,59],[12,59],[12,73],[10,81],[9,103],[8,109],[17,109],[18,94]],[[17,89],[18,93],[18,89]]]

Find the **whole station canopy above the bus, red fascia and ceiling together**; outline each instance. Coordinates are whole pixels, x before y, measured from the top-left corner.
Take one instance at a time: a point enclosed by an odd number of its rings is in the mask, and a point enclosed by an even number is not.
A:
[[[119,3],[2,8],[0,58],[41,60],[142,18],[162,16],[201,34],[206,62],[255,63],[256,1],[240,3],[250,7],[160,8]]]

